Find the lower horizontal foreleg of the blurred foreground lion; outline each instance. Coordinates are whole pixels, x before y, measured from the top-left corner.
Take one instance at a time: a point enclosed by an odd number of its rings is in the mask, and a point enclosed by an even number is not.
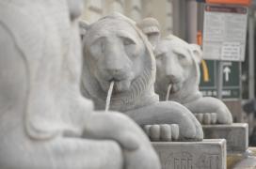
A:
[[[0,168],[123,169],[122,148],[111,140],[56,137],[31,140],[17,133],[0,141]]]

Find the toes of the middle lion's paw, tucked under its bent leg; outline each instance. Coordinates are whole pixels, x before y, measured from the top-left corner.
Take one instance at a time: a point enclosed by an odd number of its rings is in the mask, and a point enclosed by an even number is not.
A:
[[[180,136],[177,124],[155,124],[143,127],[152,142],[171,142],[177,141]]]

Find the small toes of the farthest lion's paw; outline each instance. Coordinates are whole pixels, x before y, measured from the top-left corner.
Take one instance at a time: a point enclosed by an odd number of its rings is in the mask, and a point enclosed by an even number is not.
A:
[[[210,125],[216,124],[216,113],[204,113],[204,114],[194,114],[196,118],[200,121],[200,124]]]

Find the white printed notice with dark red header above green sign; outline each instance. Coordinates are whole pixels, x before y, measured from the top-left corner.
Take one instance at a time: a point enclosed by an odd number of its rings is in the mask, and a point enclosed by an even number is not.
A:
[[[203,58],[244,61],[248,8],[206,5],[203,23]]]

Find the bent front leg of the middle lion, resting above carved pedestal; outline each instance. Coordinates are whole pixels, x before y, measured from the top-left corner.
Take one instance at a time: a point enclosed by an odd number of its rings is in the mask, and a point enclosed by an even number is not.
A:
[[[154,140],[202,140],[203,132],[197,118],[192,115],[183,105],[174,101],[161,101],[150,106],[136,109],[125,113],[132,117],[140,126],[152,126],[152,131],[148,130],[148,134]],[[170,125],[170,128],[164,124]],[[176,124],[176,127],[174,127]],[[159,125],[157,127],[157,125]],[[178,125],[178,128],[177,128]],[[149,128],[145,127],[145,128]],[[149,132],[150,131],[150,132]],[[169,132],[173,132],[170,139]],[[159,135],[159,134],[160,135]],[[178,136],[178,139],[176,139]]]

